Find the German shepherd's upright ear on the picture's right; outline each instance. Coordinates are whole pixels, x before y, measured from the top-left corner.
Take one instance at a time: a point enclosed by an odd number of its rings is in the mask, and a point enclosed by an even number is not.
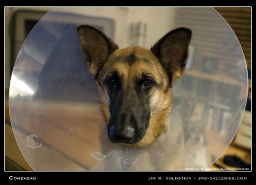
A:
[[[190,29],[178,28],[166,33],[151,47],[151,51],[160,59],[169,75],[170,84],[175,78],[181,77],[185,71],[191,38]]]

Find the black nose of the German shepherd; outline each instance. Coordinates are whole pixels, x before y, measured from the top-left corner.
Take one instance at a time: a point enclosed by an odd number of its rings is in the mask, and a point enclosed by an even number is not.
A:
[[[134,140],[135,132],[131,126],[126,126],[122,129],[117,129],[116,126],[109,128],[109,139],[113,143],[132,143]]]

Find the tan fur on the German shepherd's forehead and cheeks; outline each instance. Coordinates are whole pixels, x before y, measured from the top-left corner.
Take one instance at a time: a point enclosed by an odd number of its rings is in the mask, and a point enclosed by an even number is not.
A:
[[[150,63],[146,63],[143,61],[136,61],[133,65],[129,66],[125,62],[112,62],[115,58],[119,56],[128,56],[133,53],[136,56],[144,56],[145,59],[148,59]],[[106,76],[111,70],[118,70],[122,77],[125,79],[126,86],[129,83],[132,83],[132,79],[137,77],[138,74],[142,72],[150,72],[154,75],[155,79],[160,82],[162,76],[165,76],[163,81],[163,86],[161,91],[154,91],[151,96],[151,108],[152,108],[152,115],[150,118],[149,127],[146,130],[146,133],[143,139],[136,143],[136,144],[129,144],[126,145],[127,147],[145,147],[150,145],[157,137],[159,137],[167,128],[167,119],[170,113],[171,107],[171,90],[169,89],[168,92],[164,92],[167,88],[168,84],[168,77],[166,72],[160,65],[159,59],[156,58],[149,49],[145,49],[142,47],[129,47],[121,50],[116,50],[109,56],[108,62],[105,63],[103,66],[102,72],[100,73],[99,84],[102,85],[102,80],[104,76]],[[100,90],[100,99],[101,99],[101,110],[104,116],[105,124],[107,125],[108,120],[110,118],[110,113],[108,110],[108,99],[106,90],[104,88],[99,88]],[[107,132],[107,130],[104,130]],[[107,135],[107,133],[102,133],[102,135]]]

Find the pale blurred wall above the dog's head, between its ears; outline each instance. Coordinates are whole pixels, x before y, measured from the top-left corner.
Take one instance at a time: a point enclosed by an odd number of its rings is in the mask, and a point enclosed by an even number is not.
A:
[[[116,24],[115,42],[120,48],[130,46],[130,24],[138,22],[147,24],[145,47],[150,48],[161,36],[173,28],[174,9],[167,7],[55,8],[58,11],[113,19]]]

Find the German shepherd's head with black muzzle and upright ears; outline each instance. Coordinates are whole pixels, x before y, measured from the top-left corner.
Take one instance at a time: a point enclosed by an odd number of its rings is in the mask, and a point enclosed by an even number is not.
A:
[[[184,73],[192,31],[170,31],[150,50],[138,46],[119,49],[89,25],[79,25],[77,33],[87,68],[100,86],[109,140],[149,145],[166,128],[171,87]]]

